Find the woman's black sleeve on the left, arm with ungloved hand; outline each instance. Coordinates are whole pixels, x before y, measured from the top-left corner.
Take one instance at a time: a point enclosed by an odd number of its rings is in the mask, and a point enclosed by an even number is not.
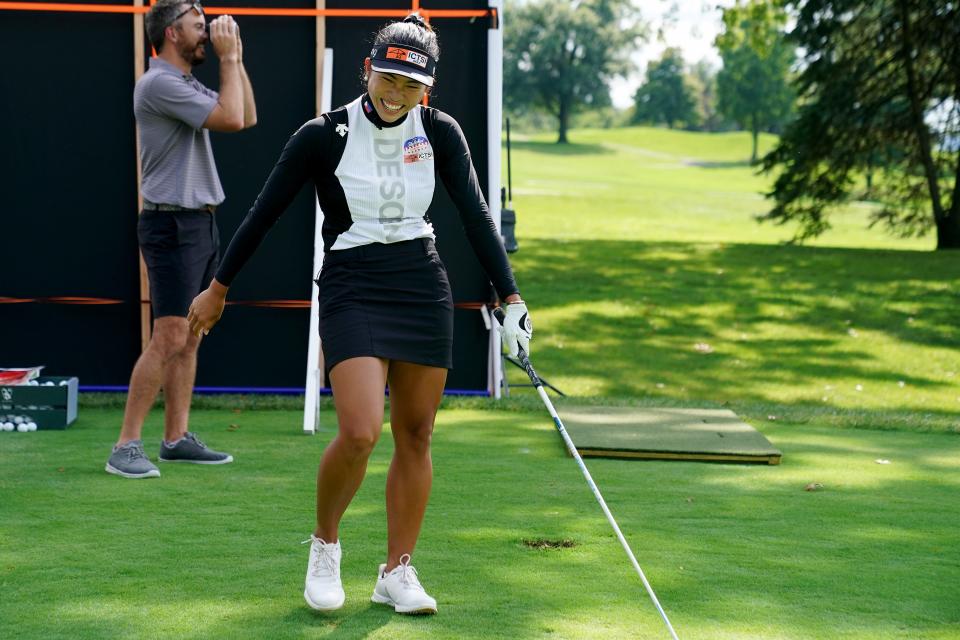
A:
[[[230,286],[260,246],[267,232],[313,174],[316,163],[324,157],[324,151],[329,149],[331,130],[327,119],[320,117],[300,127],[287,141],[260,195],[223,254],[217,269],[218,282]]]

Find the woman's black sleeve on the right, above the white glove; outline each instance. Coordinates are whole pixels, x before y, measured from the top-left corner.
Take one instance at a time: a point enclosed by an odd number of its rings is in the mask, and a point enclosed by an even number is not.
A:
[[[460,222],[480,265],[487,272],[487,277],[501,299],[519,293],[507,252],[480,190],[477,172],[470,158],[470,148],[460,125],[442,111],[432,110],[430,116],[434,119],[434,151],[437,154],[440,179],[457,206]]]

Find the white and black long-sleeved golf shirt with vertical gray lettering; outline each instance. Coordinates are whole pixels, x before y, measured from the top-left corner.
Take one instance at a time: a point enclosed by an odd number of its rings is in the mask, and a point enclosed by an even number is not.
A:
[[[416,106],[384,122],[367,95],[293,134],[227,248],[217,280],[229,286],[308,179],[323,209],[324,251],[433,238],[426,213],[439,175],[471,246],[502,298],[518,289],[457,122]]]

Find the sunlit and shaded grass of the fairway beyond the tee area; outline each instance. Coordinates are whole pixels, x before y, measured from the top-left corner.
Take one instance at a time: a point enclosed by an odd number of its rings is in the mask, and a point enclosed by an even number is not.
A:
[[[811,246],[783,245],[791,230],[753,219],[769,178],[743,161],[745,134],[571,137],[513,157],[511,260],[552,383],[960,430],[956,256],[866,230],[863,207]]]

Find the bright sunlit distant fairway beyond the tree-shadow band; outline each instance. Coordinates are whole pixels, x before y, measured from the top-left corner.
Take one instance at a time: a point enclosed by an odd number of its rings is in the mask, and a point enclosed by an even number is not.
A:
[[[515,136],[513,200],[521,237],[551,240],[772,244],[794,229],[758,224],[772,180],[749,165],[744,133],[705,134],[645,127]],[[760,152],[773,136],[761,136]],[[506,165],[504,165],[506,166]],[[837,212],[835,228],[812,246],[932,249],[932,236],[904,240],[867,230],[870,206]]]

